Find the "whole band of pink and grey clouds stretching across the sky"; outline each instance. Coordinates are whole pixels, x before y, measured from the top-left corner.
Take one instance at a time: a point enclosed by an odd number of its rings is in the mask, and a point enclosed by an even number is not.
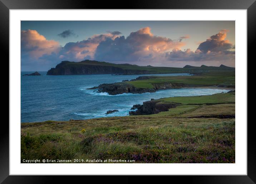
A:
[[[59,42],[47,40],[36,30],[21,31],[21,65],[37,66],[39,69],[44,67],[41,70],[48,70],[64,60],[90,59],[155,66],[168,66],[170,63],[186,61],[235,61],[235,45],[226,40],[227,30],[221,30],[206,41],[200,42],[196,51],[189,48],[181,50],[185,45],[182,40],[188,39],[189,35],[172,40],[153,35],[150,27],[131,32],[127,37],[120,34],[119,31],[107,31],[106,34],[93,35],[78,42],[68,42],[61,47]]]

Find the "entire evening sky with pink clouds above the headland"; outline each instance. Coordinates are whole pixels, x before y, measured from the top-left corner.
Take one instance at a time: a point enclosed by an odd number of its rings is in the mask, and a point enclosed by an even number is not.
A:
[[[235,21],[21,21],[21,71],[86,59],[235,67]]]

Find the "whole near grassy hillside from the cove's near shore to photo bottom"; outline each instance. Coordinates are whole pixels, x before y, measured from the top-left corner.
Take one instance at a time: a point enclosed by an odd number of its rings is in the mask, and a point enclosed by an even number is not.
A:
[[[135,163],[235,162],[235,118],[220,118],[235,114],[235,92],[162,98],[160,103],[168,102],[181,105],[151,115],[22,123],[21,163],[23,159],[94,158]]]

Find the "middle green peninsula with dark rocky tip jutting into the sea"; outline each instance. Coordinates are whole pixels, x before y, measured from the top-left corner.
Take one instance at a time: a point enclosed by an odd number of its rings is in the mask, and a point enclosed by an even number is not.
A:
[[[211,71],[193,76],[141,76],[134,80],[101,84],[87,90],[107,92],[110,95],[123,93],[148,93],[158,90],[184,87],[215,87],[235,89],[235,71]]]

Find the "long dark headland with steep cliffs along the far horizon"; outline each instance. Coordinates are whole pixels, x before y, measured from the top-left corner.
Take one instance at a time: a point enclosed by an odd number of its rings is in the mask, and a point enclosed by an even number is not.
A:
[[[205,66],[205,65],[203,65]],[[205,68],[205,69],[204,69]],[[235,70],[232,67],[195,67],[186,65],[183,68],[176,67],[154,67],[138,66],[131,64],[114,64],[108,62],[99,62],[84,60],[80,62],[62,61],[55,68],[51,68],[47,75],[88,75],[88,74],[123,74],[123,75],[141,75],[157,73],[198,73],[203,71]]]

